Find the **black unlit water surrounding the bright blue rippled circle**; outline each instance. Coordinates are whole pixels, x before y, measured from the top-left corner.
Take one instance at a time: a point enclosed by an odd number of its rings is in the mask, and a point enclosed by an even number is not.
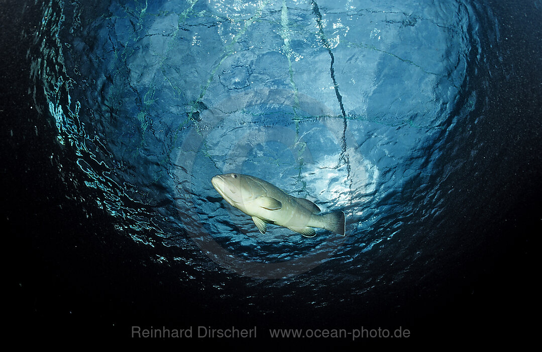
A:
[[[495,203],[506,203],[506,211],[496,213],[499,215],[484,226],[494,239],[491,250],[473,253],[464,263],[448,268],[450,276],[432,292],[404,292],[393,306],[365,310],[361,316],[355,306],[344,316],[334,315],[330,309],[326,319],[288,304],[266,316],[257,307],[232,312],[227,299],[178,290],[175,273],[149,261],[149,249],[110,235],[115,232],[108,215],[80,194],[82,187],[77,183],[64,181],[78,180],[80,175],[66,163],[59,172],[59,160],[74,164],[76,158],[72,150],[55,142],[56,127],[50,114],[37,111],[43,97],[38,92],[36,106],[31,96],[34,82],[27,51],[33,38],[22,33],[23,28],[31,33],[28,29],[40,24],[41,15],[32,2],[3,1],[1,228],[7,239],[3,249],[9,293],[9,299],[4,300],[8,312],[4,318],[12,329],[7,337],[24,343],[43,339],[130,340],[132,325],[258,325],[259,338],[263,338],[266,327],[295,324],[307,328],[386,324],[396,328],[406,324],[403,326],[411,330],[411,337],[402,342],[416,344],[523,343],[534,337],[533,318],[536,321],[538,307],[534,283],[539,278],[534,238],[542,225],[542,17],[541,9],[530,3],[504,3],[492,2],[501,23],[501,65],[505,68],[494,73],[492,104],[494,113],[508,118],[478,131],[489,136],[493,133],[489,138],[506,152],[500,182],[496,183],[501,187],[495,190]],[[160,251],[167,253],[169,249]],[[430,283],[426,287],[431,287]],[[355,343],[363,345],[365,341]]]

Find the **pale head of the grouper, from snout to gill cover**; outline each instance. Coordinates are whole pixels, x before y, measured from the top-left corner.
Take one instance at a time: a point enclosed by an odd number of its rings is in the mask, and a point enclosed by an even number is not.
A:
[[[261,185],[248,175],[216,175],[211,178],[211,183],[223,199],[241,209],[266,193]]]

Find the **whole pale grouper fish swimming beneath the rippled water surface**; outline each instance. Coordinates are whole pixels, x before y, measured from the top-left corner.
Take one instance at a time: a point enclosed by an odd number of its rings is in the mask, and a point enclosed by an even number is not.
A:
[[[211,178],[212,186],[231,206],[252,217],[261,233],[267,224],[283,226],[306,237],[323,228],[344,236],[345,215],[338,211],[319,214],[313,202],[293,197],[260,178],[242,174],[224,174]]]

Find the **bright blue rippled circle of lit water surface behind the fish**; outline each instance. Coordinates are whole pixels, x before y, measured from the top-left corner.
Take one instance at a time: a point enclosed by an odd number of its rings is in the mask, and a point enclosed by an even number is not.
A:
[[[294,292],[315,309],[365,302],[430,291],[427,277],[448,274],[439,260],[461,263],[486,240],[463,232],[488,196],[476,184],[498,169],[478,168],[487,143],[472,135],[494,118],[486,94],[502,61],[485,2],[42,9],[34,89],[76,155],[62,163],[108,214],[107,236],[145,248],[179,287],[231,310]],[[346,236],[261,234],[212,187],[227,172],[343,210]]]

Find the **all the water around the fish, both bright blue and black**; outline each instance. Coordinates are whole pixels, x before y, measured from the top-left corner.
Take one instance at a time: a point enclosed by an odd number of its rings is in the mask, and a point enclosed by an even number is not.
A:
[[[539,1],[2,7],[17,330],[528,328]],[[261,235],[232,171],[346,236]]]

